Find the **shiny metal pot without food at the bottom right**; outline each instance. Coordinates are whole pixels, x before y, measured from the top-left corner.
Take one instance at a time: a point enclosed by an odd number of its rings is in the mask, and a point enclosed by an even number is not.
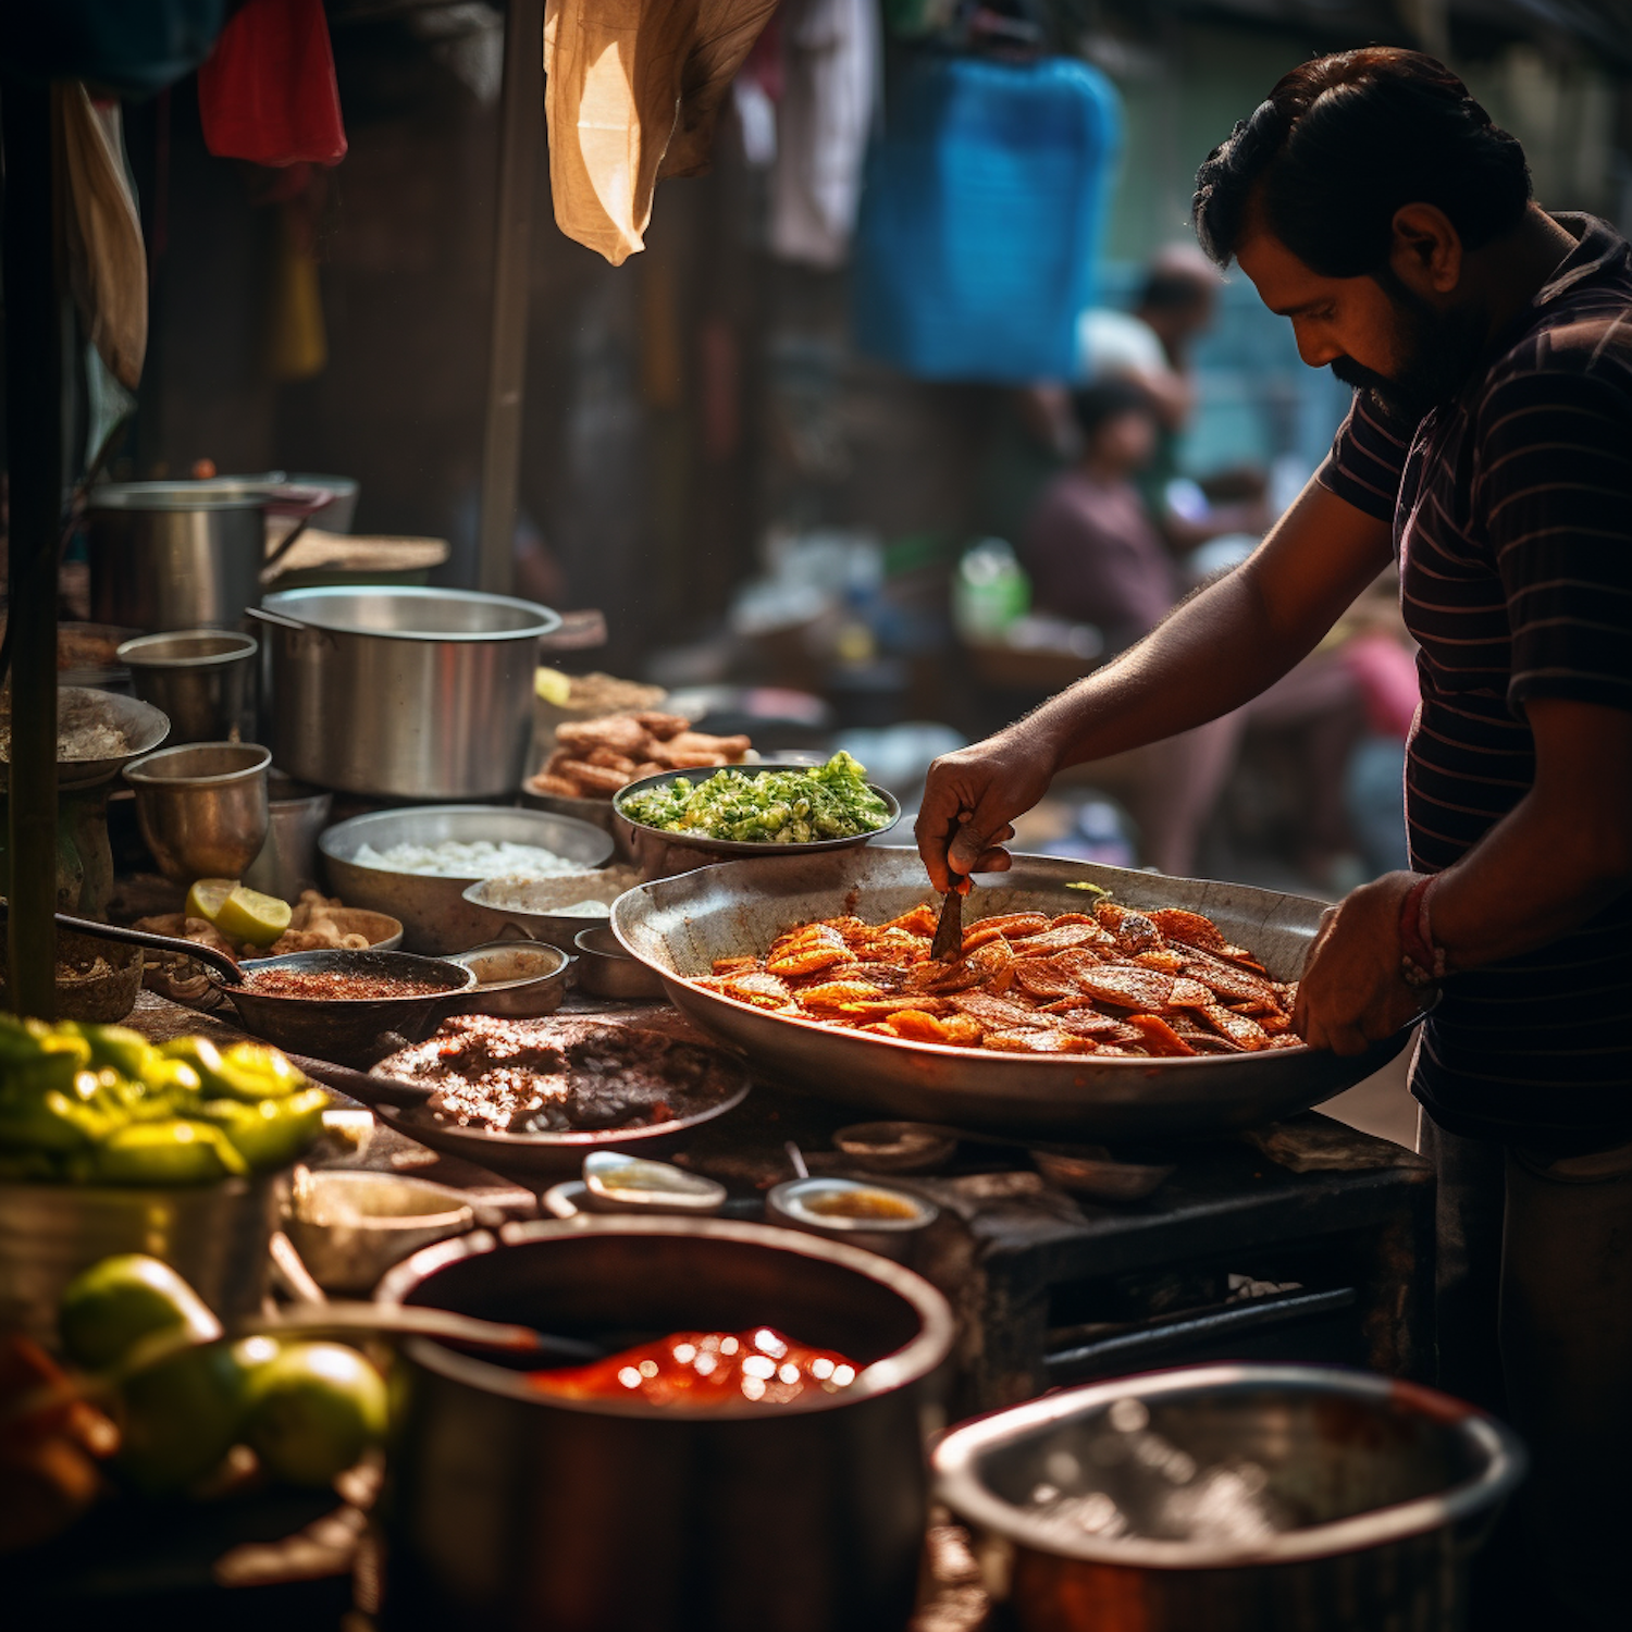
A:
[[[934,1466],[1022,1632],[1457,1632],[1524,1449],[1412,1382],[1224,1364],[996,1412]]]

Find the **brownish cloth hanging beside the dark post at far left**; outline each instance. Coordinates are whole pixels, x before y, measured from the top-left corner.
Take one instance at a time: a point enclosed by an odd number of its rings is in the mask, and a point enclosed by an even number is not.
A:
[[[69,287],[96,354],[134,392],[147,357],[147,255],[119,104],[98,108],[83,85],[57,83],[51,113]]]

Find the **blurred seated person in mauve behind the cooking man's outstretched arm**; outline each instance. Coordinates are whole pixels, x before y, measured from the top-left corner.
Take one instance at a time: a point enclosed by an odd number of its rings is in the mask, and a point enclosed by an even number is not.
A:
[[[1185,592],[1183,558],[1151,519],[1136,486],[1162,436],[1162,408],[1126,375],[1069,398],[1080,454],[1044,490],[1022,534],[1020,565],[1033,610],[1092,623],[1106,656],[1151,633]],[[1262,697],[1160,743],[1092,767],[1139,827],[1141,854],[1164,873],[1195,871],[1196,845],[1235,764],[1247,725],[1296,738],[1302,844],[1297,862],[1320,878],[1350,849],[1345,764],[1361,713],[1351,672],[1309,658]]]

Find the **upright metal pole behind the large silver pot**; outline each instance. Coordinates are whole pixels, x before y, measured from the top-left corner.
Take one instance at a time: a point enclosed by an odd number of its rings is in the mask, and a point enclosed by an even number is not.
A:
[[[481,439],[481,534],[477,583],[508,594],[514,583],[516,486],[527,370],[527,246],[539,149],[543,145],[543,0],[509,0],[504,96],[499,106],[499,204],[493,242],[493,326]]]

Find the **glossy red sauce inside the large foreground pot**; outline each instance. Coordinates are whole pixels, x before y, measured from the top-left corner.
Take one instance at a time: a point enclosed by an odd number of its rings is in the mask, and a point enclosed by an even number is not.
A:
[[[535,1371],[540,1394],[568,1400],[640,1400],[681,1410],[723,1405],[790,1405],[811,1394],[839,1394],[860,1366],[770,1327],[749,1332],[674,1332],[656,1343],[588,1366]]]

